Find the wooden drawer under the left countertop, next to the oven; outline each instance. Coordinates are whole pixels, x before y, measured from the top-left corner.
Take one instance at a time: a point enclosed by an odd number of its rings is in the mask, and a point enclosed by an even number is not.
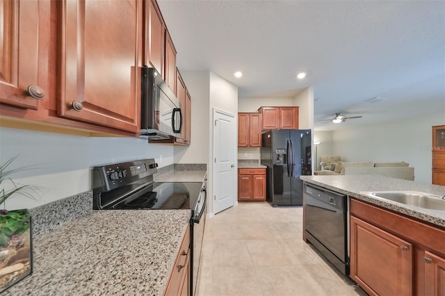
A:
[[[181,243],[181,248],[179,249],[179,254],[177,255],[175,266],[173,266],[172,273],[170,274],[170,279],[168,280],[168,286],[165,290],[164,295],[177,295],[178,290],[181,288],[181,281],[184,277],[184,273],[188,272],[188,261],[190,256],[190,229],[188,228],[184,239]]]

